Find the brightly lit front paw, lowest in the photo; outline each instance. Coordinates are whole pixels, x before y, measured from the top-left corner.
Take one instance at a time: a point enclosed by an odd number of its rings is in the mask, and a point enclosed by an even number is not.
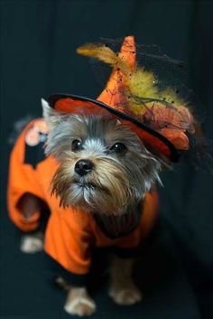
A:
[[[96,304],[88,296],[86,288],[70,288],[64,310],[68,314],[88,316],[96,312]]]

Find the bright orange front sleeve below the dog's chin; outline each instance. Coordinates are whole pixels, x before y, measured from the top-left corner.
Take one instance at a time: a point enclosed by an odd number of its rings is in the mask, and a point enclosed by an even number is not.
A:
[[[90,235],[82,220],[87,213],[52,212],[45,233],[44,249],[71,273],[85,275],[90,268]]]

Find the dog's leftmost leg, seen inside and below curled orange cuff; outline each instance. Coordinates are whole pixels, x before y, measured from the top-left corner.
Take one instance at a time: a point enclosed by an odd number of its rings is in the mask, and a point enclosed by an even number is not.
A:
[[[26,192],[18,203],[19,210],[23,217],[28,220],[32,217],[35,211],[42,211],[44,203],[38,197]],[[43,249],[43,233],[38,230],[31,233],[24,234],[21,239],[20,249],[24,253],[35,253]]]

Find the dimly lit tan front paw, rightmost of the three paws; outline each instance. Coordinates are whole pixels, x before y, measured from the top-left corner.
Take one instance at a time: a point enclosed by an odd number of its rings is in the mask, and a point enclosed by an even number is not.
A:
[[[131,284],[129,286],[111,286],[109,296],[117,305],[134,305],[143,299],[140,290]]]

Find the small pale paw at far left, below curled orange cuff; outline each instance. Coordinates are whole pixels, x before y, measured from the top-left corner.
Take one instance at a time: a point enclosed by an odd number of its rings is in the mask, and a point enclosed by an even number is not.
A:
[[[23,235],[20,249],[26,254],[33,254],[43,250],[42,234],[37,233],[33,235]]]

